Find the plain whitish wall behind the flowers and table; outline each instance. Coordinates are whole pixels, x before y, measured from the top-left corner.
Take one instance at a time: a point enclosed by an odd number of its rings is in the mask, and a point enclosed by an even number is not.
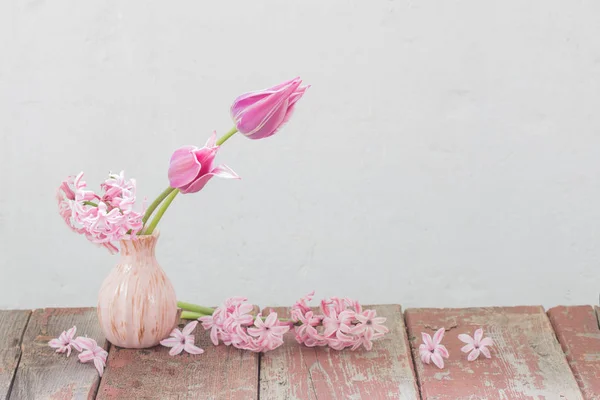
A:
[[[234,137],[243,180],[179,196],[159,261],[179,298],[317,290],[414,306],[597,304],[600,3],[0,3],[0,307],[94,305],[116,262],[55,188],[231,126],[236,95],[313,85],[281,134]]]

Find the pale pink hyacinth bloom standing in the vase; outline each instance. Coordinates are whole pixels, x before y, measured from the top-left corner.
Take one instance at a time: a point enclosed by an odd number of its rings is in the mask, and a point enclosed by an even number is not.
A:
[[[135,180],[125,179],[123,171],[110,174],[101,189],[101,195],[88,190],[83,172],[68,177],[57,191],[58,211],[74,232],[116,253],[113,242],[128,234],[135,237],[142,229],[143,212],[133,209]]]

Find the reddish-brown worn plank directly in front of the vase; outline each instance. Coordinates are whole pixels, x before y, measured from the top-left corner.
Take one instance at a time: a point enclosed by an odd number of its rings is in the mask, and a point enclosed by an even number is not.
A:
[[[188,322],[181,320],[179,328]],[[256,399],[258,354],[214,346],[200,324],[194,334],[203,354],[172,357],[163,346],[112,346],[97,399]]]

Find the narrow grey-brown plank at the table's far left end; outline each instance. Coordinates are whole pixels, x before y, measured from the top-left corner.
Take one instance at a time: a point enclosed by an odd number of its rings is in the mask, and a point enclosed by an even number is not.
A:
[[[10,393],[30,310],[0,310],[0,399]]]

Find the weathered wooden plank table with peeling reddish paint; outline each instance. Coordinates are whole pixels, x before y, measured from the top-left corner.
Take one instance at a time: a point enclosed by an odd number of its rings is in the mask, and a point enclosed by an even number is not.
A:
[[[94,308],[0,311],[0,399],[600,399],[600,329],[591,306],[372,307],[388,318],[390,334],[369,352],[306,348],[290,336],[254,354],[215,347],[199,327],[205,353],[176,357],[160,346],[110,346]],[[76,354],[48,347],[73,325],[109,350],[102,378]],[[442,370],[418,357],[420,333],[440,327],[450,351]],[[468,362],[457,335],[478,327],[496,345],[491,359]]]

